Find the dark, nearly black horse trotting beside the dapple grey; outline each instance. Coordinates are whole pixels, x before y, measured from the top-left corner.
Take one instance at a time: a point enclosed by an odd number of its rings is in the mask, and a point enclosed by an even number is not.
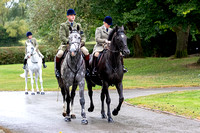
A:
[[[127,37],[124,33],[124,27],[116,26],[111,33],[109,34],[108,40],[111,41],[111,44],[108,50],[103,51],[98,65],[97,65],[97,75],[96,76],[86,76],[88,94],[90,97],[90,107],[88,108],[89,112],[94,110],[94,104],[92,100],[92,87],[95,85],[102,86],[101,90],[101,115],[102,118],[106,118],[106,114],[104,111],[104,99],[106,98],[107,103],[107,116],[108,122],[113,122],[110,113],[110,96],[108,87],[111,85],[115,85],[119,94],[119,104],[117,108],[115,108],[112,112],[113,115],[117,115],[122,102],[124,101],[123,96],[123,66],[121,63],[121,53],[124,55],[130,54],[130,51],[127,47]],[[90,63],[91,65],[91,63]]]

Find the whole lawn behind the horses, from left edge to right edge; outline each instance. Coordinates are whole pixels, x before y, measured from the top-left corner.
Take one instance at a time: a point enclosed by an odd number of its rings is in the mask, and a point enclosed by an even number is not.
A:
[[[129,58],[125,66],[129,72],[124,75],[124,88],[157,88],[157,87],[186,87],[199,86],[199,67],[191,66],[199,57],[183,59],[171,58]],[[57,90],[58,85],[54,76],[54,63],[47,62],[43,69],[45,90]],[[24,90],[22,64],[0,65],[0,91]],[[28,81],[30,89],[30,80]],[[86,87],[87,88],[87,87]],[[96,86],[95,89],[101,88]],[[114,87],[110,87],[114,88]]]

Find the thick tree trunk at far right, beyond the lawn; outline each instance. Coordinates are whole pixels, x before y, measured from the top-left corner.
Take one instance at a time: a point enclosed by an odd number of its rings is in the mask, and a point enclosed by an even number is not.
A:
[[[182,26],[177,26],[173,28],[176,32],[177,37],[177,43],[176,43],[176,58],[182,58],[187,57],[187,46],[188,46],[188,37],[189,37],[189,31],[190,26],[187,27],[187,29],[183,29]]]

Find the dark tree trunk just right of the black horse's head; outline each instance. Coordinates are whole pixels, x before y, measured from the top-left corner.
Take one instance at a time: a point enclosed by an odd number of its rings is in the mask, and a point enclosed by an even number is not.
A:
[[[130,22],[128,23],[128,28],[129,30],[134,31],[135,28],[137,27],[137,23],[134,22]],[[130,49],[133,49],[133,57],[143,57],[143,48],[141,45],[141,38],[139,35],[134,35],[133,37],[131,37],[131,41],[132,45]]]

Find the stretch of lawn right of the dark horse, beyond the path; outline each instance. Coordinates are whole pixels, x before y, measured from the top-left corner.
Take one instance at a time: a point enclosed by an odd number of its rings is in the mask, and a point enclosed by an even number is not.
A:
[[[193,66],[198,57],[183,59],[139,58],[125,60],[129,72],[125,74],[125,88],[199,86],[200,69]]]

